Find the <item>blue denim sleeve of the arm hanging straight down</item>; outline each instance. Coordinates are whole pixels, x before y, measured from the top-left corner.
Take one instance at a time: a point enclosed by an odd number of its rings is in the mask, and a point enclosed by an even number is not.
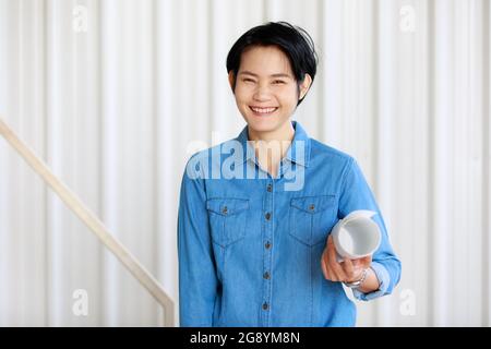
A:
[[[181,326],[211,327],[218,280],[209,236],[203,177],[182,177],[178,213],[179,317]]]

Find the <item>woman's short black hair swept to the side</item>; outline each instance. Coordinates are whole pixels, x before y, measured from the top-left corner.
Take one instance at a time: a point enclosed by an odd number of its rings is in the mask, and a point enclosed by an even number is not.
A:
[[[278,47],[288,57],[298,85],[303,82],[306,73],[312,77],[313,82],[318,70],[318,55],[309,33],[287,22],[268,22],[246,32],[228,52],[227,73],[233,72],[233,91],[242,52],[254,46]],[[303,98],[298,101],[297,106]]]

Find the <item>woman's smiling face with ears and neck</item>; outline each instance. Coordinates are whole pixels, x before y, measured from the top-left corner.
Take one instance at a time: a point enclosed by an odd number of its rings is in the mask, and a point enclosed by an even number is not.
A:
[[[230,72],[230,86],[233,86],[235,79]],[[279,48],[256,46],[244,50],[237,73],[235,97],[248,123],[250,139],[290,139],[290,117],[310,84],[311,79],[306,74],[299,92],[288,57]]]

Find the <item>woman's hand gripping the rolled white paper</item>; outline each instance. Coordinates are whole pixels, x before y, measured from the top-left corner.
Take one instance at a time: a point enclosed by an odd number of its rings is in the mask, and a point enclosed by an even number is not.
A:
[[[333,237],[330,234],[327,245],[321,257],[322,273],[327,280],[340,282],[355,282],[361,279],[363,270],[372,264],[372,256],[366,256],[359,260],[344,258],[338,263],[336,258],[336,249]]]

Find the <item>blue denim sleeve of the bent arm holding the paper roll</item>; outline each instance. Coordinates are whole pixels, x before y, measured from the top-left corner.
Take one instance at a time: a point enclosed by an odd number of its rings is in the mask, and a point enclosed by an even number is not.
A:
[[[369,301],[392,293],[394,287],[399,282],[402,264],[391,246],[387,229],[373,193],[357,161],[350,158],[344,171],[339,196],[339,219],[356,209],[376,212],[372,219],[379,225],[382,233],[381,244],[373,254],[371,265],[380,282],[379,289],[370,293],[362,293],[357,289],[352,290],[356,299]]]

